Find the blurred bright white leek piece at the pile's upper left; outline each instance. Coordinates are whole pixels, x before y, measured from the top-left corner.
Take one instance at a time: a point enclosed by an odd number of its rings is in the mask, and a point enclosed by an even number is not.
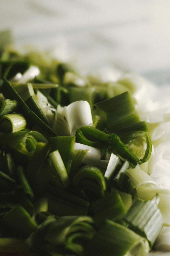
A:
[[[21,79],[18,80],[18,83],[27,83],[37,77],[40,73],[40,70],[36,66],[30,66],[25,73],[22,75]]]

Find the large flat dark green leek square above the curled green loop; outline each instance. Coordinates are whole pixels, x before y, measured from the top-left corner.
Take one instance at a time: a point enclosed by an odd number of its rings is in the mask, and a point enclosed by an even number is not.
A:
[[[146,123],[139,120],[129,92],[99,102],[95,106],[106,112],[108,132],[116,133],[123,142],[141,136],[143,131],[148,131]]]

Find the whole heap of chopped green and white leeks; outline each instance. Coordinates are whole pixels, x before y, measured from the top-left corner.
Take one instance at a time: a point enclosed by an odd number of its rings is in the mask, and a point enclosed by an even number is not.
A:
[[[1,50],[0,251],[154,248],[170,226],[169,162],[159,173],[170,115],[141,107],[140,86],[129,73],[106,82],[45,54]]]

